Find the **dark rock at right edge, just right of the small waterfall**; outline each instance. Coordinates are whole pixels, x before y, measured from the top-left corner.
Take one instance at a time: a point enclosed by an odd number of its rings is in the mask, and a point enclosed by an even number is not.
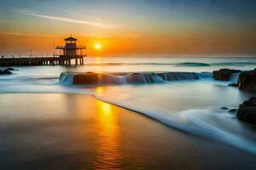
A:
[[[256,69],[243,71],[239,75],[238,86],[241,90],[256,91]]]

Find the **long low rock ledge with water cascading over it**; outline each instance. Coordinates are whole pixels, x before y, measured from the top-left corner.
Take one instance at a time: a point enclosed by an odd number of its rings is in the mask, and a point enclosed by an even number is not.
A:
[[[198,80],[210,77],[212,77],[212,73],[207,72],[134,72],[114,74],[62,72],[59,80],[63,84],[146,84]]]

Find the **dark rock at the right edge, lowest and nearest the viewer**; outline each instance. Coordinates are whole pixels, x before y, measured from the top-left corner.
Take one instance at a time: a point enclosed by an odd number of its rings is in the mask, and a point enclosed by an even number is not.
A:
[[[256,98],[248,99],[239,105],[236,117],[242,122],[256,125]]]

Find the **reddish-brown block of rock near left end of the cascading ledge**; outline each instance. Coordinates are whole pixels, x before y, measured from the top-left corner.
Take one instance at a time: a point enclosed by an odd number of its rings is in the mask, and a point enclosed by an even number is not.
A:
[[[96,84],[98,82],[98,74],[94,72],[87,72],[84,74],[74,75],[74,84]]]

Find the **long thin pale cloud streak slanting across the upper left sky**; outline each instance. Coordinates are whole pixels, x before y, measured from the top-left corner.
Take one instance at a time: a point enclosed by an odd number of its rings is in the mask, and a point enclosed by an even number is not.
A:
[[[86,25],[86,26],[95,26],[95,27],[100,27],[100,28],[117,28],[117,27],[119,27],[119,26],[116,26],[116,25],[104,24],[104,23],[98,22],[98,21],[75,20],[75,19],[70,19],[70,18],[60,17],[60,16],[52,16],[52,15],[44,15],[44,14],[34,14],[34,13],[29,12],[27,10],[15,10],[15,12],[19,13],[19,14],[26,14],[28,16],[42,18],[42,19],[59,20],[59,21],[63,21],[63,22],[82,24],[82,25]]]

